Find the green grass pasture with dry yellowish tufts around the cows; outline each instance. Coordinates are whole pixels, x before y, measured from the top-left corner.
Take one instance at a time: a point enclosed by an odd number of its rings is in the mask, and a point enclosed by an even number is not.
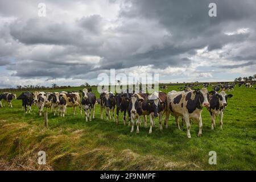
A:
[[[165,92],[178,87],[169,86]],[[218,119],[210,130],[210,115],[204,108],[203,136],[197,137],[198,124],[192,123],[191,139],[185,126],[177,130],[174,117],[162,133],[158,119],[151,135],[144,127],[139,134],[130,133],[120,116],[119,125],[101,121],[99,105],[92,122],[85,122],[79,112],[73,116],[71,107],[65,118],[48,113],[46,129],[36,106],[31,114],[24,114],[22,101],[15,100],[14,108],[0,108],[0,169],[255,170],[256,90],[236,86],[230,93],[234,96],[228,100],[223,130]],[[46,151],[46,165],[37,163],[40,150]],[[216,151],[216,165],[208,163],[209,151]]]

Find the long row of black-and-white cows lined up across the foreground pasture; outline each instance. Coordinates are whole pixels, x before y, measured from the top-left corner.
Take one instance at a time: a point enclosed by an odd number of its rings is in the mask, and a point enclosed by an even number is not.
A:
[[[167,94],[158,91],[151,94],[129,92],[129,90],[123,90],[121,93],[112,93],[106,90],[102,90],[100,98],[96,98],[96,94],[92,93],[92,89],[83,89],[79,92],[23,92],[16,98],[15,94],[3,93],[0,94],[2,98],[8,103],[10,107],[11,100],[22,100],[22,108],[25,112],[27,110],[31,112],[31,106],[36,105],[38,107],[39,115],[42,115],[43,109],[51,109],[53,115],[60,115],[64,117],[67,114],[67,107],[73,107],[73,114],[76,114],[76,108],[79,107],[80,114],[82,110],[85,113],[85,120],[92,121],[95,118],[95,107],[100,105],[100,118],[104,119],[104,111],[106,120],[113,119],[117,124],[119,122],[119,114],[123,113],[123,125],[129,121],[131,126],[131,132],[134,131],[134,125],[136,125],[136,131],[139,133],[139,127],[143,125],[147,127],[147,116],[150,121],[150,129],[148,133],[152,133],[152,128],[155,127],[154,119],[159,119],[159,129],[163,130],[162,122],[164,118],[164,125],[168,127],[168,120],[170,114],[175,117],[177,129],[180,130],[179,118],[182,119],[183,124],[187,127],[187,137],[191,138],[190,128],[191,121],[197,121],[199,123],[198,136],[202,135],[203,122],[201,113],[203,107],[206,107],[210,113],[212,120],[211,129],[214,129],[215,120],[217,115],[220,115],[220,128],[223,125],[224,110],[228,105],[228,98],[231,98],[232,94],[227,94],[225,91],[218,93],[218,89],[213,88],[208,92],[207,88],[201,89],[186,89],[183,91],[172,90]],[[0,101],[1,101],[0,100]],[[2,102],[0,102],[1,107]]]

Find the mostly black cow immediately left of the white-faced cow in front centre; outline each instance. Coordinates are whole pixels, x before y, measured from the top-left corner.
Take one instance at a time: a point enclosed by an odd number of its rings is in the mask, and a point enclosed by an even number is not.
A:
[[[123,125],[126,125],[126,112],[129,116],[129,121],[131,118],[131,113],[128,110],[129,102],[130,102],[131,94],[130,93],[116,93],[115,94],[115,103],[117,105],[116,109],[116,123],[118,125],[118,117],[119,117],[119,111],[123,112]]]

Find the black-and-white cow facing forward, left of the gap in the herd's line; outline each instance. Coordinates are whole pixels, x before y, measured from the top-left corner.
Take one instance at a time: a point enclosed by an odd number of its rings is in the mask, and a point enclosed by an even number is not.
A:
[[[83,89],[80,90],[82,92],[82,101],[81,105],[85,112],[86,122],[92,121],[95,115],[95,106],[96,106],[96,96],[92,93],[92,89]],[[93,113],[92,113],[93,112]]]

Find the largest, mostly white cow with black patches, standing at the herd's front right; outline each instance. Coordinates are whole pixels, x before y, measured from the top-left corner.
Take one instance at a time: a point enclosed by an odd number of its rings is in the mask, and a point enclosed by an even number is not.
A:
[[[188,92],[176,92],[172,90],[167,94],[167,111],[166,119],[164,124],[168,126],[168,120],[171,115],[174,115],[176,120],[177,128],[180,130],[179,117],[183,117],[187,125],[187,137],[191,138],[190,135],[190,120],[196,120],[199,122],[199,133],[197,136],[201,136],[203,122],[201,118],[201,113],[203,107],[209,107],[209,93],[207,88],[201,88],[200,90],[191,90]]]

